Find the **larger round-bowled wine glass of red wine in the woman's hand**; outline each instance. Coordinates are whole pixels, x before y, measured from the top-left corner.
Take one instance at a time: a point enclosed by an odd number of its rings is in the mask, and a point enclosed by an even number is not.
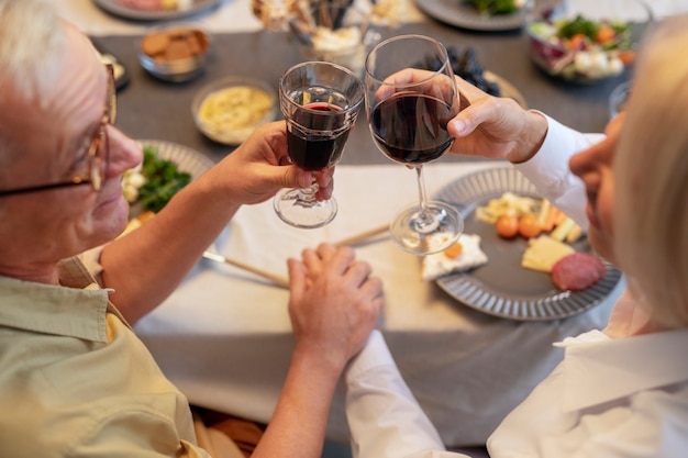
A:
[[[426,72],[398,72],[432,68]],[[373,139],[391,160],[414,168],[420,203],[403,209],[390,224],[392,241],[414,255],[441,252],[464,228],[453,206],[429,201],[423,164],[454,143],[446,130],[460,110],[454,71],[445,47],[423,35],[398,35],[375,46],[366,59],[366,111]]]

